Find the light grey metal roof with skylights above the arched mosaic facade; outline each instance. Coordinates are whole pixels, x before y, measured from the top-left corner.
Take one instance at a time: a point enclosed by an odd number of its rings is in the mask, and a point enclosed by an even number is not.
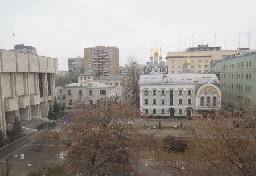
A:
[[[164,82],[164,76],[166,81]],[[139,84],[204,84],[220,83],[215,73],[141,74]]]

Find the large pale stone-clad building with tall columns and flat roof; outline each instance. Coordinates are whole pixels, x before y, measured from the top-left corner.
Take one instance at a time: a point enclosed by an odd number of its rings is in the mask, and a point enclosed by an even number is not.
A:
[[[6,134],[15,117],[47,118],[55,98],[58,60],[0,49],[0,129]]]

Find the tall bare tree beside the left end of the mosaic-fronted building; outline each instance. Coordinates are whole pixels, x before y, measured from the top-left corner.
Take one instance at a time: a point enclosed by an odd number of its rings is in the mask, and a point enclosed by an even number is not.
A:
[[[131,55],[127,58],[126,66],[129,68],[128,72],[126,73],[125,79],[125,88],[130,91],[132,94],[132,101],[136,102],[136,105],[139,104],[139,79],[141,69],[139,66],[140,60],[134,55]]]

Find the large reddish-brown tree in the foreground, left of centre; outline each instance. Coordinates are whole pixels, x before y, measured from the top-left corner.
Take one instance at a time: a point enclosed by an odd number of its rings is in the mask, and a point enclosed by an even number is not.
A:
[[[146,138],[132,128],[140,110],[132,104],[118,104],[116,98],[100,100],[99,106],[76,102],[72,124],[61,133],[47,132],[57,148],[68,148],[66,171],[83,176],[112,175],[130,170],[138,161],[138,148],[146,146]]]

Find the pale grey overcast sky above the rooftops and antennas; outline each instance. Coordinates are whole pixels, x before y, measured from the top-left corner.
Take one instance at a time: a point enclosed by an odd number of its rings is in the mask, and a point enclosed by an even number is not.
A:
[[[84,56],[83,48],[117,46],[120,65],[135,54],[149,61],[158,39],[162,55],[202,44],[256,49],[255,0],[0,0],[0,48],[34,46],[38,55],[58,58],[59,70],[68,70],[67,58]]]

